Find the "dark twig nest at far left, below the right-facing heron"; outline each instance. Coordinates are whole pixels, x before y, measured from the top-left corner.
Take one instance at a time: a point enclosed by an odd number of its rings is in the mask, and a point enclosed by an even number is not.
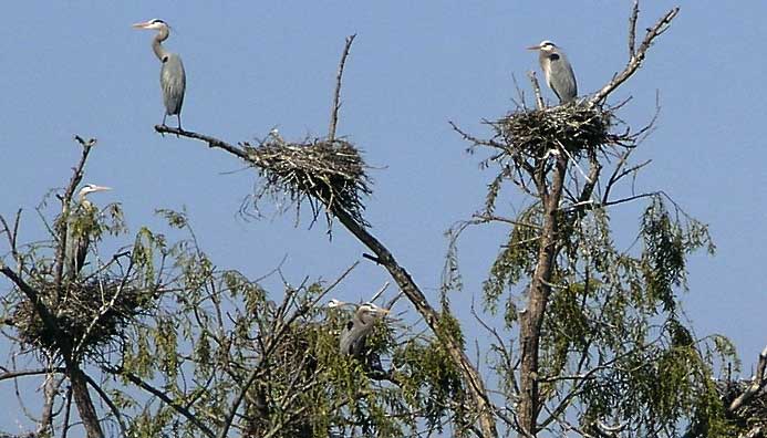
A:
[[[54,296],[53,284],[41,284],[41,296]],[[103,348],[122,337],[124,328],[153,301],[145,289],[124,279],[71,282],[56,304],[43,299],[61,335],[72,343],[74,355],[100,357]],[[43,322],[29,299],[12,315],[20,338],[51,354],[61,354],[60,340]]]

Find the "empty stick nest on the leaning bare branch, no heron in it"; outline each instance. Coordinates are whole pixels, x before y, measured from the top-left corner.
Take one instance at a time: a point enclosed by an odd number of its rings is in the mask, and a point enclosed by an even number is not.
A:
[[[343,139],[288,143],[271,134],[260,145],[245,144],[245,148],[263,178],[256,201],[266,195],[284,195],[297,208],[307,200],[314,220],[324,207],[329,219],[340,209],[367,225],[362,197],[372,194],[371,181],[353,144]]]

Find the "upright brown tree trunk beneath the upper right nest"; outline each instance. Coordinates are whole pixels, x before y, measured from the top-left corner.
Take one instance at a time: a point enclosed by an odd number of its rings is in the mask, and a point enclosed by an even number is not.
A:
[[[535,437],[538,432],[537,420],[540,411],[540,394],[538,390],[538,347],[540,331],[543,325],[546,306],[551,292],[551,273],[559,252],[557,232],[559,231],[559,200],[562,195],[568,159],[560,156],[554,167],[551,187],[546,190],[546,177],[539,191],[543,204],[543,227],[538,249],[538,263],[530,280],[529,301],[527,311],[520,316],[519,344],[521,350],[520,364],[520,400],[517,416],[521,427],[520,437]]]

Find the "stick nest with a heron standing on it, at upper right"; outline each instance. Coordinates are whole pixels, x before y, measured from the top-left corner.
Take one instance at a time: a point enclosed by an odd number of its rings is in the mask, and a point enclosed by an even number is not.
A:
[[[551,150],[564,149],[573,158],[588,156],[614,144],[610,134],[613,113],[597,105],[559,105],[543,109],[512,112],[493,123],[510,155],[543,158]]]

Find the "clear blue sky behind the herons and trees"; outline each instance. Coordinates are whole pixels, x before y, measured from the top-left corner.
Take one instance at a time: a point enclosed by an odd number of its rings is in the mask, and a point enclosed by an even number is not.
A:
[[[672,6],[645,1],[640,29]],[[363,252],[341,227],[329,241],[321,227],[294,228],[291,215],[245,221],[237,210],[252,189],[251,171],[201,144],[154,133],[163,108],[153,32],[131,24],[163,18],[174,27],[166,46],[186,65],[184,125],[230,142],[263,137],[272,127],[290,139],[324,134],[343,40],[357,33],[339,133],[376,167],[366,212],[373,233],[436,302],[443,232],[481,205],[493,177],[464,153],[447,121],[486,133],[481,118],[512,107],[511,75],[527,87],[526,72],[537,69],[524,48],[543,39],[568,52],[581,93],[597,90],[626,60],[629,8],[629,1],[10,2],[0,27],[0,213],[24,208],[22,238],[40,238],[33,207],[69,179],[79,154],[72,136],[80,134],[100,140],[85,180],[115,188],[94,200],[122,202],[133,230],[159,228],[155,208],[186,207],[220,267],[256,278],[287,255],[283,269],[296,283],[335,278]],[[638,187],[666,190],[711,225],[718,252],[691,259],[685,309],[698,335],[735,341],[746,374],[767,333],[766,114],[757,86],[767,70],[758,52],[765,15],[764,2],[685,2],[644,67],[614,96],[633,96],[621,117],[641,126],[660,93],[657,128],[636,154],[653,164]],[[620,208],[613,219],[621,221],[619,241],[639,225],[635,208]],[[504,234],[501,228],[466,234],[458,303],[479,299]],[[363,262],[339,295],[365,299],[386,280]],[[468,333],[481,335],[470,324]],[[9,420],[0,415],[0,425]]]

